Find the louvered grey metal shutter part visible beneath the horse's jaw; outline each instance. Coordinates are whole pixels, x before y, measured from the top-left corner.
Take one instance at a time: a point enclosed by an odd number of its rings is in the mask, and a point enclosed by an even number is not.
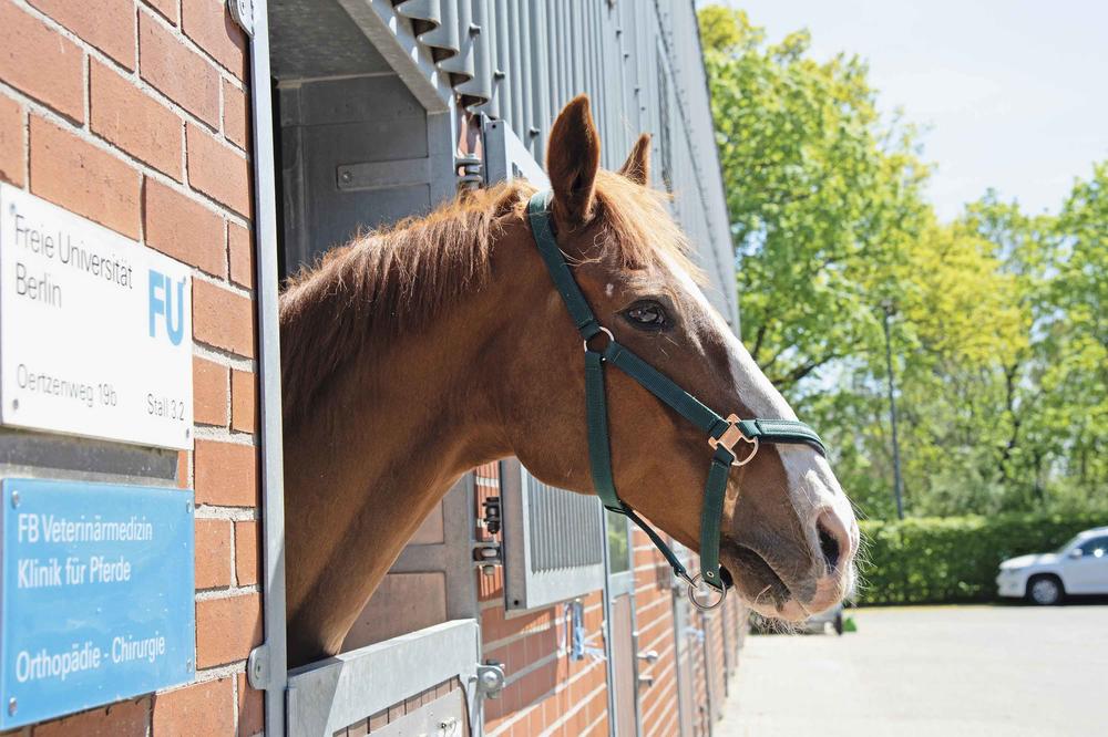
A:
[[[599,499],[543,484],[517,460],[504,461],[500,478],[506,608],[536,609],[601,589]]]

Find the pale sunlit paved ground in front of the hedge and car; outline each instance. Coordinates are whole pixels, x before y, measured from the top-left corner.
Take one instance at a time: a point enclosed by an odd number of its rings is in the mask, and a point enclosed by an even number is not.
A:
[[[715,737],[1108,735],[1108,606],[853,612],[747,637]]]

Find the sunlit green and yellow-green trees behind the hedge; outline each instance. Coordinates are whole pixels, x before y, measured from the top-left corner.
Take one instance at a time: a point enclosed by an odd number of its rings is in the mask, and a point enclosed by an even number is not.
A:
[[[909,513],[1108,510],[1108,164],[1057,217],[940,222],[863,61],[699,18],[742,339],[862,513],[894,512],[885,305]]]

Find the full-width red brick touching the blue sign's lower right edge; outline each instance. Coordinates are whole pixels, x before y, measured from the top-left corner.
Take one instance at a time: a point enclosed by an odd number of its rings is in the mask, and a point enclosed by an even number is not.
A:
[[[256,593],[196,602],[196,662],[208,668],[244,661],[261,644],[261,599]],[[156,708],[156,707],[155,707]],[[156,718],[156,715],[155,715]],[[155,730],[155,735],[157,731]],[[194,731],[225,735],[227,731]]]

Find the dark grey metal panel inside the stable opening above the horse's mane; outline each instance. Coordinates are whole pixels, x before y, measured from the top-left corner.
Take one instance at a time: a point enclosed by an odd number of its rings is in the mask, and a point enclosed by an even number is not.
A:
[[[454,195],[450,114],[428,114],[398,76],[279,91],[289,271]]]

